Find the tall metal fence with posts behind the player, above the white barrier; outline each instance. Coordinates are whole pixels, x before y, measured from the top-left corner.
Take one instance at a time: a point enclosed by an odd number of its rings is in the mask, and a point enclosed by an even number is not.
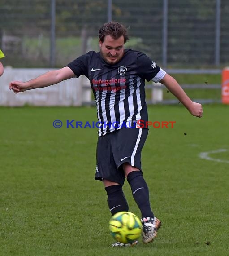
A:
[[[99,50],[99,27],[111,19],[129,27],[127,47],[163,68],[229,64],[228,0],[0,0],[3,62],[65,66]]]

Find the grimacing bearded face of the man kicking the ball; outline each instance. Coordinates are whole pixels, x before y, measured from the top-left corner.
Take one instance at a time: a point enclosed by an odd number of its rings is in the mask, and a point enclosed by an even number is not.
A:
[[[113,65],[121,60],[124,54],[124,37],[113,39],[110,35],[104,37],[104,41],[99,41],[100,53],[105,62]]]

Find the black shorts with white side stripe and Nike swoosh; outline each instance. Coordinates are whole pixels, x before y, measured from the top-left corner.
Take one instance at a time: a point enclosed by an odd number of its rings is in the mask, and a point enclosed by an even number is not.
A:
[[[148,129],[122,128],[98,137],[95,180],[103,179],[123,185],[123,163],[141,168],[141,153]]]

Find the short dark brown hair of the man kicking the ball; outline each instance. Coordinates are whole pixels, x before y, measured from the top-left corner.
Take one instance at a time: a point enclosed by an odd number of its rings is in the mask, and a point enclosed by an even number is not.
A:
[[[127,28],[118,22],[108,22],[99,29],[99,40],[104,42],[104,37],[110,35],[114,39],[118,39],[120,36],[124,36],[124,44],[129,40]]]

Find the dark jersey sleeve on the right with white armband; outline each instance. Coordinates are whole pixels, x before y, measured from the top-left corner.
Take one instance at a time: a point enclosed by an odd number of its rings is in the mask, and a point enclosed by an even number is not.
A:
[[[160,68],[160,66],[157,66],[146,54],[140,52],[137,56],[137,69],[138,74],[148,82],[152,80],[157,83],[163,79],[166,74],[166,72]]]

